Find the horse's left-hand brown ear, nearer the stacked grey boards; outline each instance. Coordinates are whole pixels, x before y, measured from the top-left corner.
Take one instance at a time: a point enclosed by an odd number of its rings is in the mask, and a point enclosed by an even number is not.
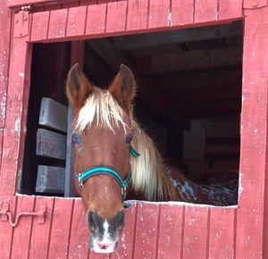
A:
[[[92,93],[94,86],[88,81],[80,65],[76,63],[68,73],[66,93],[69,101],[74,107],[80,106],[88,95]]]

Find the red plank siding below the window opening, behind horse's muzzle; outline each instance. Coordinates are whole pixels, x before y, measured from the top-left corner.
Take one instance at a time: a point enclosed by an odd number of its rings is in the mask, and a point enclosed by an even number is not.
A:
[[[107,258],[89,252],[80,199],[17,196],[14,203],[11,211],[16,213],[37,212],[46,205],[46,221],[39,224],[37,217],[22,216],[16,228],[0,221],[0,230],[7,234],[3,235],[7,239],[0,238],[1,258],[88,258],[89,254],[89,258]],[[232,258],[236,213],[233,207],[133,204],[127,210],[120,246],[111,257]]]

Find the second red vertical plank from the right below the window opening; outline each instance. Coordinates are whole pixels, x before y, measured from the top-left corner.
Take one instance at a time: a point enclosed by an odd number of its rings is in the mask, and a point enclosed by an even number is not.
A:
[[[207,258],[209,207],[188,205],[185,208],[183,259]],[[198,249],[198,253],[197,253]]]

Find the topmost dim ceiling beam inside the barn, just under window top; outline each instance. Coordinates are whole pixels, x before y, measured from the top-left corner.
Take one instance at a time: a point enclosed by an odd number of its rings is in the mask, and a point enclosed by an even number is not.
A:
[[[172,43],[185,43],[213,38],[229,38],[242,36],[242,23],[240,21],[210,27],[192,29],[178,29],[160,33],[147,33],[117,37],[113,39],[119,50],[137,49],[146,46],[160,46]]]

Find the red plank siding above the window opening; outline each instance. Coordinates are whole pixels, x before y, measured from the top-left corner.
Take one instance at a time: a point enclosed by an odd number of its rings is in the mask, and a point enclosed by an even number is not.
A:
[[[10,4],[12,2],[19,4],[19,1],[13,0]],[[40,1],[33,1],[33,4],[37,2]],[[30,39],[46,42],[60,38],[96,38],[189,27],[199,23],[216,24],[217,21],[222,23],[242,17],[242,1],[235,4],[229,4],[226,0],[205,1],[205,6],[204,1],[194,0],[109,2],[33,13]]]

